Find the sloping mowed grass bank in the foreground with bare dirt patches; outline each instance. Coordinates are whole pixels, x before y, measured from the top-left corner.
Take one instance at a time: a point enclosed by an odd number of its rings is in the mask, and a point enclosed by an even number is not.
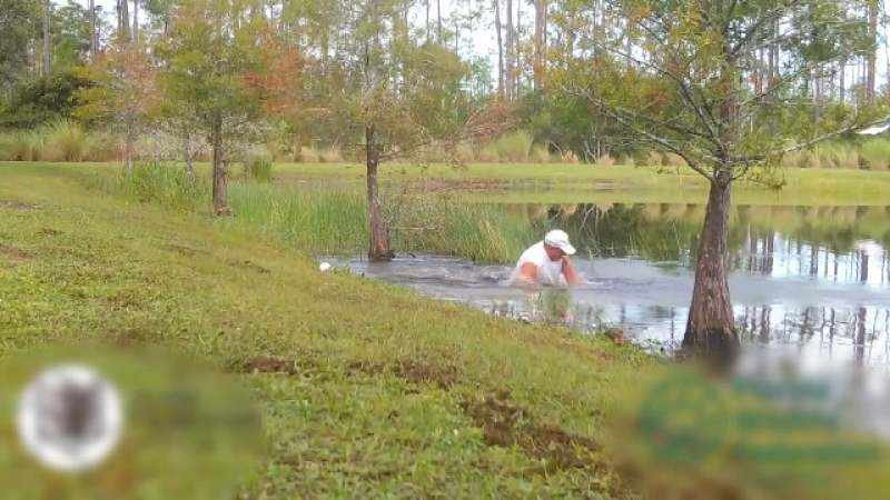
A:
[[[99,198],[65,169],[0,174],[3,358],[126,341],[258,371],[230,374],[256,391],[269,449],[240,498],[629,498],[593,443],[652,364],[633,349],[323,273],[249,234]],[[198,477],[137,497],[148,472],[125,458],[77,498],[198,498],[185,493]],[[164,484],[185,474],[164,470]],[[75,498],[32,473],[0,472],[3,497]]]

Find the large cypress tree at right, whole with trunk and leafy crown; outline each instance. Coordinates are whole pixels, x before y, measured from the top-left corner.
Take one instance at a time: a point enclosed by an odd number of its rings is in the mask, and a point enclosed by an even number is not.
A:
[[[637,141],[679,154],[709,181],[683,347],[725,366],[740,347],[726,271],[733,182],[753,179],[781,187],[775,166],[783,154],[867,124],[869,110],[841,106],[827,109],[824,120],[808,120],[809,102],[788,92],[843,56],[788,51],[825,27],[840,36],[853,32],[857,23],[844,21],[842,9],[828,0],[616,3],[645,34],[641,41],[647,57],[626,51],[614,36],[596,37],[600,56],[583,73],[590,79],[563,88]],[[749,83],[751,62],[772,43],[787,47],[778,78],[768,86]],[[782,127],[765,127],[769,116]]]

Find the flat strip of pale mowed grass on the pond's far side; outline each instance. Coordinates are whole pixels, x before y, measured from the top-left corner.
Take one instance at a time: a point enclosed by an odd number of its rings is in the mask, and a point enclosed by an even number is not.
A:
[[[0,162],[0,167],[6,164]],[[117,163],[53,163],[72,170],[119,170]],[[196,163],[200,174],[210,164]],[[234,179],[244,178],[240,163],[230,167]],[[471,163],[462,169],[448,164],[383,163],[380,181],[412,182],[416,189],[452,192],[468,201],[497,202],[706,202],[706,180],[689,168],[568,164],[568,163]],[[273,166],[275,182],[333,180],[364,183],[360,163],[288,163]],[[734,184],[733,202],[744,204],[886,204],[890,197],[890,171],[848,169],[778,169],[772,180],[779,189],[750,179]],[[542,191],[543,188],[544,190]]]

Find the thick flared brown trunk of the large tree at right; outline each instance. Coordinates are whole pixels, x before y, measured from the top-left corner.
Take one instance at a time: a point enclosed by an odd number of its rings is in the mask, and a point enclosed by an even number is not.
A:
[[[721,364],[731,362],[741,348],[732,316],[726,271],[731,192],[731,180],[711,182],[699,242],[692,304],[682,343],[684,351],[703,353]]]

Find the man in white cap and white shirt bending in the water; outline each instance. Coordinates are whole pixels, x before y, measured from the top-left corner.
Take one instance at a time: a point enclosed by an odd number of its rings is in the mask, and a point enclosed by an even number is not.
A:
[[[575,247],[568,242],[568,234],[554,229],[523,252],[513,270],[511,283],[526,288],[536,284],[555,287],[564,282],[574,287],[578,283],[578,277],[568,259],[574,254]]]

